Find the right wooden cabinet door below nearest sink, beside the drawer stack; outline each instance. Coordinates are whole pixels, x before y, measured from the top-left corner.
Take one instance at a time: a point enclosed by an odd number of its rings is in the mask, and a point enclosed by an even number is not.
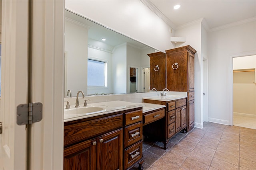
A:
[[[123,129],[107,133],[97,138],[97,169],[122,170]]]

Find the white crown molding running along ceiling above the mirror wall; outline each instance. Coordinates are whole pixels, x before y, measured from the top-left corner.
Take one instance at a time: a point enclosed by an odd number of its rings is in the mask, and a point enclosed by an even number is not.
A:
[[[176,29],[176,25],[172,23],[154,4],[152,4],[149,0],[140,0],[144,5],[146,5],[150,10],[152,10],[159,18],[161,18],[164,22],[166,22],[172,29]]]

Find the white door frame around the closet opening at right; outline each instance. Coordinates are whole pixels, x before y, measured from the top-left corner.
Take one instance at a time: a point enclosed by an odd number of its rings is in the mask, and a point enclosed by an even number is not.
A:
[[[256,51],[237,53],[230,55],[228,62],[228,101],[229,121],[228,125],[233,126],[233,58],[256,55]]]

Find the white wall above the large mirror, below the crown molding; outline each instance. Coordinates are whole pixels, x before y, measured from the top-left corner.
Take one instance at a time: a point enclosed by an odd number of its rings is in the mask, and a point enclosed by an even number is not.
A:
[[[173,48],[174,31],[170,33],[170,26],[139,0],[66,0],[65,7],[158,51]]]

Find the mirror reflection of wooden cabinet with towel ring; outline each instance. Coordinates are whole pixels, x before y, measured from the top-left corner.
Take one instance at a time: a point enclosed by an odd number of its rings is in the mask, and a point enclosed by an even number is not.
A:
[[[165,53],[157,52],[148,54],[150,57],[150,90],[165,88]],[[158,67],[156,67],[158,66]]]

